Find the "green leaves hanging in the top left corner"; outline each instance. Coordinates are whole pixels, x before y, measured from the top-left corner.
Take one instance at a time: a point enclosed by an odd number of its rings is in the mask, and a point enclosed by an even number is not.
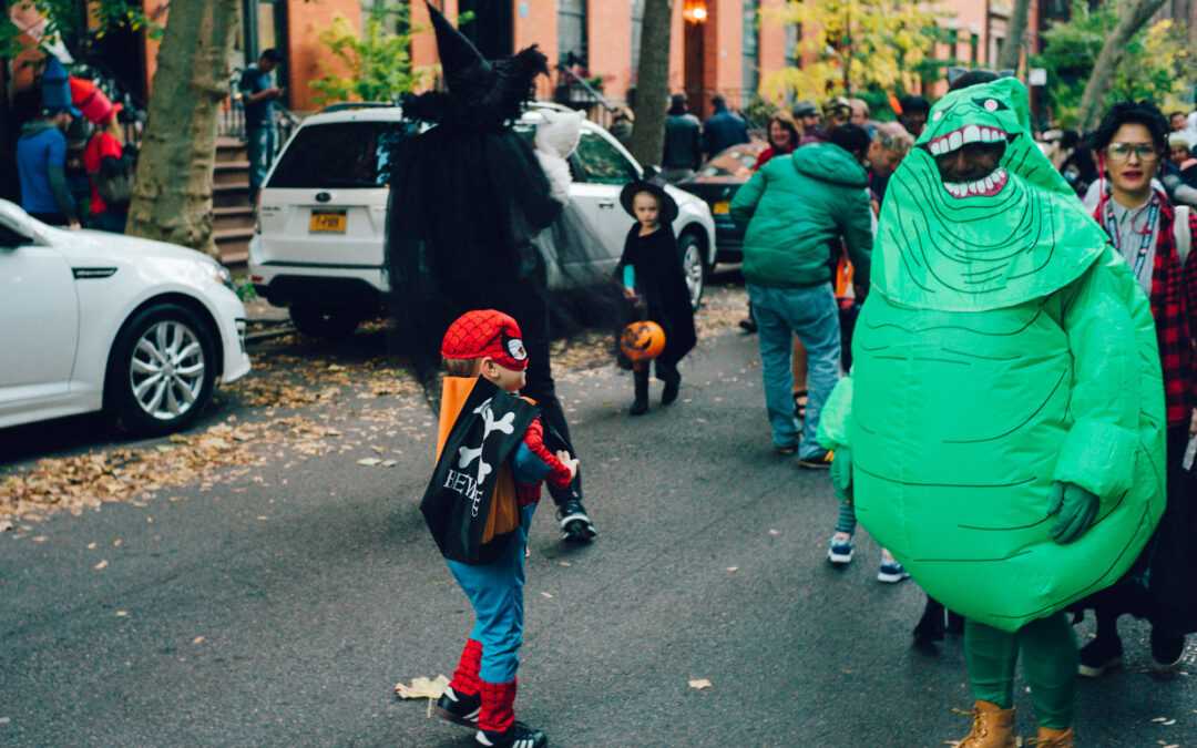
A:
[[[40,47],[45,50],[61,42],[72,56],[80,57],[83,34],[87,31],[85,12],[96,22],[95,34],[102,38],[110,29],[127,26],[133,31],[145,29],[150,38],[162,38],[163,29],[150,20],[139,0],[93,0],[86,10],[78,0],[18,0],[12,8],[34,10],[45,18],[45,31]],[[20,29],[12,23],[8,12],[0,17],[0,56],[12,59],[24,51],[28,42],[20,38]]]

